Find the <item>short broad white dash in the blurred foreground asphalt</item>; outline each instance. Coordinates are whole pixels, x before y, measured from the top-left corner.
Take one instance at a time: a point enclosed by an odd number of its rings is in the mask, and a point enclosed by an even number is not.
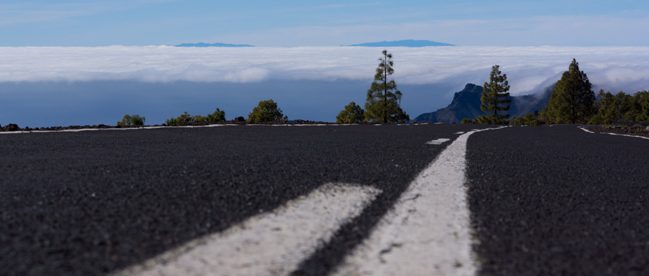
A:
[[[306,197],[116,275],[287,275],[380,190],[324,184]]]

